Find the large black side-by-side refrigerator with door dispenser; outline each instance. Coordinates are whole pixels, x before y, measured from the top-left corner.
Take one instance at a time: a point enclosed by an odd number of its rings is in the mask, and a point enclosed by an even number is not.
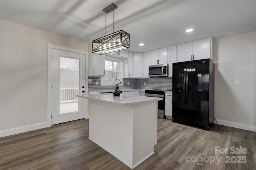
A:
[[[172,121],[209,130],[214,124],[214,63],[173,63]]]

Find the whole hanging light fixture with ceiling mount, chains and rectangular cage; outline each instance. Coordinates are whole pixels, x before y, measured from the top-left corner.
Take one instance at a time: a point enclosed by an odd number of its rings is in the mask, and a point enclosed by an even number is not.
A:
[[[105,36],[92,41],[92,53],[106,54],[122,49],[128,49],[130,47],[130,34],[120,30],[114,32],[115,28],[115,4],[110,4],[103,9],[105,12]],[[107,35],[107,14],[113,11],[113,33]]]

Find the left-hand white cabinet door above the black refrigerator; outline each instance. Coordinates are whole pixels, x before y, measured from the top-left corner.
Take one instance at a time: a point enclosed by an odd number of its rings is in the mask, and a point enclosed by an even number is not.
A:
[[[192,60],[192,50],[193,50],[193,43],[183,43],[179,44],[177,47],[177,52],[178,52],[178,57],[177,61],[182,62],[182,61],[190,61]]]

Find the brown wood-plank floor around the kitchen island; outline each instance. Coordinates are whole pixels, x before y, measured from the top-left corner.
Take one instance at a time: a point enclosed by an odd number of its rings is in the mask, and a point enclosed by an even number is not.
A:
[[[1,170],[130,169],[88,139],[88,119],[2,137],[0,144]],[[227,154],[215,154],[215,146],[229,150]],[[231,146],[242,146],[247,152],[231,154]],[[206,131],[158,119],[158,142],[154,150],[152,156],[134,169],[256,170],[256,132],[238,128],[214,125]],[[196,161],[200,156],[203,162]],[[226,156],[230,156],[232,162],[246,156],[243,158],[246,163],[226,163]],[[213,157],[220,162],[208,161],[208,158],[214,160]]]

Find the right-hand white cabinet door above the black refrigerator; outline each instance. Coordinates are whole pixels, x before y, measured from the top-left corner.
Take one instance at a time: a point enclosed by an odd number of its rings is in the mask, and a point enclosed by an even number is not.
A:
[[[192,59],[211,59],[211,38],[193,42]]]

